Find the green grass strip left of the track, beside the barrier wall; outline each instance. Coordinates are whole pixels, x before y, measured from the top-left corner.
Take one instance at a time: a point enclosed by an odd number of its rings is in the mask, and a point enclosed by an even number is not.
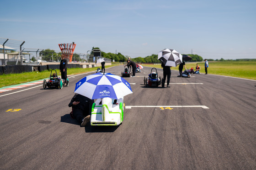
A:
[[[111,65],[105,66],[105,68],[111,67]],[[96,71],[97,68],[72,68],[67,70],[68,75],[75,75],[75,74],[80,74],[80,73],[86,73],[90,71]],[[59,69],[56,70],[58,76],[61,77],[61,74],[59,72]],[[17,85],[21,83],[27,83],[30,81],[35,81],[35,80],[41,80],[41,79],[48,79],[50,76],[51,71],[45,70],[42,72],[26,72],[26,73],[20,73],[20,74],[9,74],[9,75],[0,75],[0,88],[9,86],[9,85]]]

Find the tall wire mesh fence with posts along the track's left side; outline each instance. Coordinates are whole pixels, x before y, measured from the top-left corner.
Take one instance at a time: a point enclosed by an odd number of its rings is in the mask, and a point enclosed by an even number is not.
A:
[[[61,50],[23,48],[24,43],[23,40],[0,38],[0,65],[39,64],[61,60]],[[96,62],[98,58],[88,53],[74,53],[71,62]],[[104,60],[111,62],[111,59]]]

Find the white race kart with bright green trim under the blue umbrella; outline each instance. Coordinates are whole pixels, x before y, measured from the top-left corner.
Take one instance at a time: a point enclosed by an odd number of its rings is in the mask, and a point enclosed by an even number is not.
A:
[[[91,108],[91,125],[120,125],[123,122],[123,109],[123,97],[118,100],[109,97],[97,99]]]

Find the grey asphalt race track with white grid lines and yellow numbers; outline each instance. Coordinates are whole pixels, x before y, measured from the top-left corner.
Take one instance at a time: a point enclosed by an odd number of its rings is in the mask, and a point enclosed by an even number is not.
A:
[[[171,88],[146,88],[150,70],[124,78],[133,94],[124,97],[123,124],[114,127],[80,127],[69,116],[75,83],[92,73],[69,76],[63,89],[0,93],[0,169],[256,169],[255,80],[183,78],[172,70]]]

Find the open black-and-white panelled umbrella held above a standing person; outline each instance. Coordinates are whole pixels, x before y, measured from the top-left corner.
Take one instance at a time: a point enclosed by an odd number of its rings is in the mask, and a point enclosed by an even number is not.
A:
[[[158,52],[158,60],[164,63],[165,66],[176,67],[182,63],[182,55],[176,50],[165,49]]]

